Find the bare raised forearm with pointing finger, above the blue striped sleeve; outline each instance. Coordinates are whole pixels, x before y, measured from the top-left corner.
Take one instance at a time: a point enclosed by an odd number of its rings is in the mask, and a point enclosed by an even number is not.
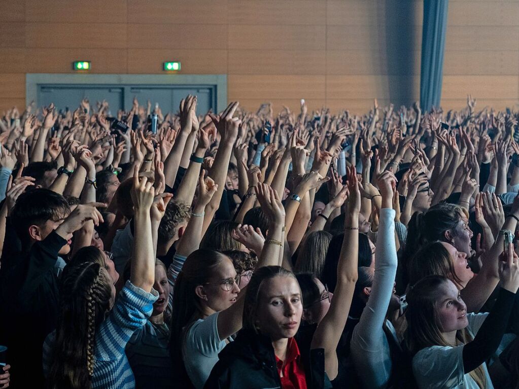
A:
[[[133,170],[134,239],[131,257],[130,281],[133,285],[151,292],[155,282],[155,256],[152,241],[152,220],[150,210],[155,189],[146,177],[139,178],[139,169]]]

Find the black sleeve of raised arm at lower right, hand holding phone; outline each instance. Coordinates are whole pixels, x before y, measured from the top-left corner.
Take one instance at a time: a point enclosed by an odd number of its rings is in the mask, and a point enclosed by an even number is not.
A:
[[[515,293],[499,290],[499,296],[492,311],[477,331],[472,342],[463,346],[463,369],[465,373],[474,370],[496,352],[507,328]]]

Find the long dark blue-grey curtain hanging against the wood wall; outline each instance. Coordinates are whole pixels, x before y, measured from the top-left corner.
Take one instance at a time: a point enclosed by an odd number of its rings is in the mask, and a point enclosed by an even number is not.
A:
[[[420,106],[424,112],[440,106],[448,4],[448,0],[424,0],[420,72]]]

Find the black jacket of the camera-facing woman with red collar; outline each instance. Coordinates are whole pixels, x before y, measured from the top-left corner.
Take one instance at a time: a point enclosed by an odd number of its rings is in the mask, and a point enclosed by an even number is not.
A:
[[[296,339],[301,352],[308,389],[328,389],[332,385],[324,371],[324,350],[306,347],[306,339]],[[304,344],[304,345],[303,345]],[[225,346],[204,389],[274,389],[281,387],[276,356],[269,338],[242,329],[234,342]]]

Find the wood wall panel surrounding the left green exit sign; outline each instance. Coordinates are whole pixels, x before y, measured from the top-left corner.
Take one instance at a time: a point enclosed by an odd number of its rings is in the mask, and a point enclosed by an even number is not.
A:
[[[74,73],[72,62],[90,61],[91,73],[127,73],[126,49],[40,49],[26,52],[29,73]]]

